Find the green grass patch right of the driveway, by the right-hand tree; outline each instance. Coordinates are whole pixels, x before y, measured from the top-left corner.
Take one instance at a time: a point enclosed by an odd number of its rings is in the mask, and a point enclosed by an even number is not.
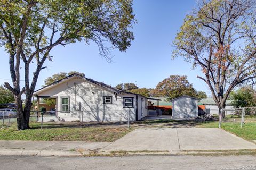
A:
[[[208,122],[198,125],[200,128],[218,128],[218,126],[219,122]],[[247,122],[243,125],[243,128],[241,128],[240,123],[223,122],[221,123],[221,128],[243,139],[249,141],[256,140],[256,122]]]

